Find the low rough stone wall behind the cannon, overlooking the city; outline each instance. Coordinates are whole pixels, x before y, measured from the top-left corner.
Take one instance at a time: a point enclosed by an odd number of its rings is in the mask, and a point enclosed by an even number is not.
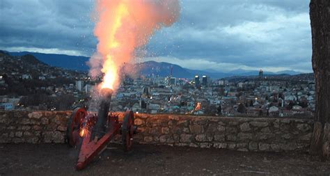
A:
[[[0,111],[0,143],[64,143],[70,111]],[[136,114],[134,141],[241,151],[308,150],[313,120]]]

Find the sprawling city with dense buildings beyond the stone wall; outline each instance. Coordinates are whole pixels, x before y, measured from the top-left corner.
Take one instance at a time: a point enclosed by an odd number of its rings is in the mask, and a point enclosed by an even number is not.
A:
[[[0,59],[13,66],[1,70],[0,109],[63,111],[88,106],[95,111],[97,102],[91,97],[100,80],[92,80],[86,72],[50,67],[33,56],[15,58],[2,53]],[[33,65],[19,64],[24,59],[30,63],[34,59]],[[112,98],[111,111],[295,118],[311,118],[315,111],[313,74],[264,75],[260,70],[258,76],[212,79],[207,75],[176,78],[171,75],[173,67],[168,70],[168,77],[125,75]],[[15,82],[34,87],[15,86],[17,90],[8,93]]]

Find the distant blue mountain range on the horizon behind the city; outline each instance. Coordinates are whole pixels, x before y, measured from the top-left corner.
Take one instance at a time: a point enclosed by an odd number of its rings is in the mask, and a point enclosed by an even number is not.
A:
[[[8,52],[8,51],[6,51]],[[8,52],[12,56],[24,56],[26,54],[31,54],[38,58],[38,60],[54,67],[62,67],[68,70],[77,70],[77,71],[88,71],[88,65],[86,65],[89,60],[86,56],[68,56],[65,54],[43,54],[43,53],[34,53],[28,51],[22,52]],[[259,70],[243,70],[237,69],[230,72],[218,72],[216,70],[191,70],[180,65],[175,65],[172,63],[156,62],[156,61],[146,61],[143,63],[136,63],[134,67],[139,69],[139,72],[143,75],[155,74],[160,77],[166,77],[171,74],[171,67],[173,77],[180,78],[192,78],[195,75],[207,75],[207,77],[212,77],[214,79],[219,79],[223,77],[233,77],[233,76],[255,76],[259,74]],[[283,70],[281,72],[267,72],[263,71],[264,75],[271,74],[301,74],[301,72],[295,72],[293,70]]]

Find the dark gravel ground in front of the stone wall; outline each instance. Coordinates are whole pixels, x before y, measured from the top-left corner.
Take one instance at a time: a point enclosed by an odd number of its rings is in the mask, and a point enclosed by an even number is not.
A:
[[[134,145],[124,153],[116,144],[108,147],[77,171],[77,152],[67,145],[0,144],[0,175],[330,175],[330,161],[299,152]]]

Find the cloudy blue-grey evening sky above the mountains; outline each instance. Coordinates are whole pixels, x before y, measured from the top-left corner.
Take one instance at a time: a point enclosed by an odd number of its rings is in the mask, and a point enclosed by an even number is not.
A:
[[[91,56],[93,0],[1,0],[0,49]],[[136,62],[194,70],[312,72],[309,0],[182,0]]]

